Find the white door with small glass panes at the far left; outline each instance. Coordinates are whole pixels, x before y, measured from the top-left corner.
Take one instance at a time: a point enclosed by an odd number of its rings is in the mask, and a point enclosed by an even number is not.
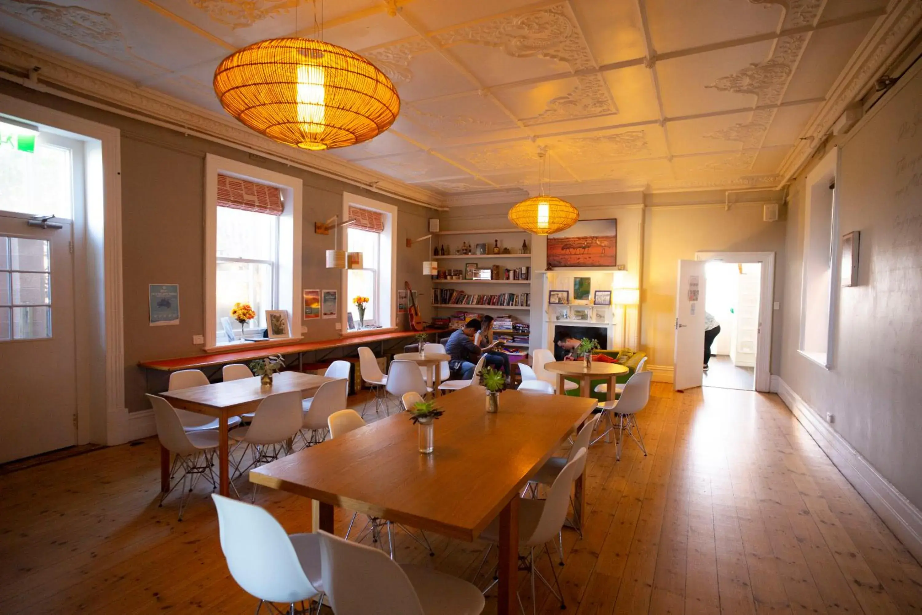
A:
[[[71,225],[0,212],[0,462],[77,443]]]

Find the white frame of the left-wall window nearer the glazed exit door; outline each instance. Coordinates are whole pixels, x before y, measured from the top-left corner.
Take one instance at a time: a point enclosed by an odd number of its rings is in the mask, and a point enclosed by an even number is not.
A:
[[[289,313],[290,335],[266,342],[218,343],[215,310],[218,294],[218,175],[228,175],[278,188],[285,209],[278,216],[278,309]],[[301,340],[301,200],[302,182],[266,168],[254,167],[229,158],[207,154],[205,157],[205,350],[221,352],[235,348],[258,348],[263,345]]]

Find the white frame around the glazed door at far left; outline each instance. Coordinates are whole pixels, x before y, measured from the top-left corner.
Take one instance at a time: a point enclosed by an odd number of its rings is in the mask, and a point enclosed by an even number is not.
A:
[[[74,215],[77,444],[128,440],[124,407],[124,294],[122,280],[121,131],[69,113],[0,94],[0,113],[84,142],[85,208]],[[84,308],[83,311],[80,311]]]

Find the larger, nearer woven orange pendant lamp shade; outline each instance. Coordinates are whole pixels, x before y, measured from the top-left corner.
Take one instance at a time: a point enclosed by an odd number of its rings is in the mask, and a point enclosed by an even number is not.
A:
[[[324,41],[282,38],[231,53],[215,93],[233,117],[270,139],[320,150],[368,141],[400,112],[396,87],[358,53]]]

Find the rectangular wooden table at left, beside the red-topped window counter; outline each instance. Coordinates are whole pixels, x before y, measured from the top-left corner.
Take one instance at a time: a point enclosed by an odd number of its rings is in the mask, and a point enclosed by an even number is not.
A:
[[[273,375],[272,384],[266,387],[262,386],[258,376],[254,376],[166,391],[160,393],[160,397],[169,401],[173,408],[218,418],[218,491],[221,495],[228,495],[231,482],[228,419],[255,412],[262,400],[275,393],[298,390],[301,391],[301,399],[313,397],[320,385],[334,379],[287,371]],[[170,451],[163,445],[160,445],[160,490],[170,491]]]

